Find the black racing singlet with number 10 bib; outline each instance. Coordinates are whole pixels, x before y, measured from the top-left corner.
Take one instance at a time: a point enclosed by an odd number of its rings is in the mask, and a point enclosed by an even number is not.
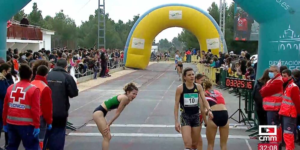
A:
[[[180,111],[186,114],[199,113],[199,91],[195,83],[192,89],[187,89],[185,83],[183,83],[183,91],[180,95]]]

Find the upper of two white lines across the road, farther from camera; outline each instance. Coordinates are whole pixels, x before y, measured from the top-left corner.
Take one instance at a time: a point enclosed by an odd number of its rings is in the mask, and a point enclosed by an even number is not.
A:
[[[86,127],[97,127],[96,124],[87,124]],[[175,128],[175,125],[151,125],[151,124],[112,124],[110,127],[134,127],[134,128]],[[202,128],[205,128],[202,125]],[[248,127],[233,127],[229,126],[229,129],[248,129]]]

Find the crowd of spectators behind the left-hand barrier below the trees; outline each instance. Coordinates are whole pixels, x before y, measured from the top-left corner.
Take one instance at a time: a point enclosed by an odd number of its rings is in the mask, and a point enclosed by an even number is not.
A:
[[[51,50],[42,48],[37,52],[32,50],[20,52],[18,49],[9,48],[6,59],[7,63],[12,66],[12,71],[11,76],[8,76],[7,79],[12,83],[13,78],[18,80],[17,73],[20,64],[27,64],[34,69],[36,64],[47,61],[51,70],[60,58],[67,60],[67,71],[73,76],[74,80],[90,74],[94,74],[94,79],[97,79],[96,75],[99,72],[100,77],[105,78],[110,76],[108,74],[110,69],[124,66],[123,57],[123,51],[120,49],[97,49],[95,46],[90,49],[78,46],[75,50],[68,49],[66,46],[58,46],[57,48],[53,47]]]

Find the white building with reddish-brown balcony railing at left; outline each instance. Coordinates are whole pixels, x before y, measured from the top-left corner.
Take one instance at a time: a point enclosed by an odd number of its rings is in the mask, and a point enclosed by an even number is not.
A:
[[[18,23],[12,23],[7,28],[6,47],[7,49],[17,48],[20,52],[28,49],[37,52],[42,48],[51,50],[51,35],[54,34],[55,31],[38,26],[22,26]]]

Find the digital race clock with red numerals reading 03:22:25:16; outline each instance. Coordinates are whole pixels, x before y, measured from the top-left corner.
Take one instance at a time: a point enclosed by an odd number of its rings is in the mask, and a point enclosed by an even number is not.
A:
[[[254,88],[254,80],[245,80],[237,78],[226,78],[226,86],[230,88],[241,88],[252,90]]]

